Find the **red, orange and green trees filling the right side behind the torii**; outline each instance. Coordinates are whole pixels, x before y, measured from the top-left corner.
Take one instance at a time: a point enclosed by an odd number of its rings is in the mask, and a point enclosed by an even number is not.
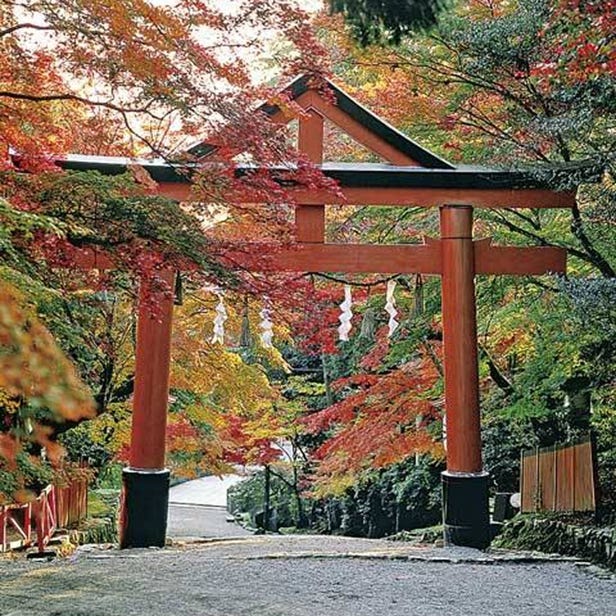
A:
[[[323,28],[340,78],[423,144],[578,189],[571,211],[478,212],[478,235],[569,253],[566,281],[478,280],[485,454],[500,489],[515,489],[521,448],[572,438],[588,428],[591,395],[594,408],[613,400],[613,16],[605,2],[460,3],[394,47],[361,48],[339,23]],[[344,229],[396,241],[437,224],[425,211],[366,208]],[[424,290],[438,318],[438,285]],[[610,413],[600,414],[605,430]],[[602,443],[608,460],[613,442]]]

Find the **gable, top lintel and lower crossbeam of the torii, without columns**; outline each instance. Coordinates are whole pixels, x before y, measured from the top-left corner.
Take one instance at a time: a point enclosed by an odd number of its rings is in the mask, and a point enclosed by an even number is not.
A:
[[[265,103],[255,110],[273,122],[298,120],[298,147],[323,173],[338,183],[337,195],[298,186],[296,241],[299,250],[277,253],[272,269],[300,271],[347,271],[373,273],[439,273],[440,247],[426,238],[424,245],[353,246],[328,244],[325,239],[326,204],[441,207],[571,207],[572,193],[558,193],[536,177],[521,171],[453,165],[413,141],[366,109],[331,81],[302,75],[280,91],[281,99],[297,104]],[[358,143],[385,158],[380,163],[323,162],[324,122],[331,121]],[[224,130],[224,129],[223,129]],[[95,169],[116,174],[137,164],[158,183],[158,192],[179,201],[190,200],[191,166],[214,162],[217,145],[204,141],[186,153],[194,163],[172,164],[164,160],[132,161],[114,157],[68,156],[58,161],[67,169]],[[237,154],[241,154],[238,151]],[[255,169],[239,163],[236,173]],[[276,168],[269,167],[274,173]],[[188,173],[187,173],[188,171]],[[289,190],[293,190],[289,188]],[[244,195],[243,199],[249,199]],[[495,247],[488,240],[475,242],[477,273],[538,274],[563,271],[565,252],[554,247]],[[514,254],[523,260],[514,258]],[[515,271],[509,271],[515,270]]]

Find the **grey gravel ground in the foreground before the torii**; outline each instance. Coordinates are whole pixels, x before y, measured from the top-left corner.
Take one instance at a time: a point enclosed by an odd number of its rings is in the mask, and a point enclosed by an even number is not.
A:
[[[571,562],[336,537],[0,560],[2,616],[614,616],[616,582]]]

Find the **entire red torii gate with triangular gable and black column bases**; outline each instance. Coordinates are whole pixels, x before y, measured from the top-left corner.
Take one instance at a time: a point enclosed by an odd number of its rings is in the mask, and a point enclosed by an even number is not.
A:
[[[288,94],[304,110],[298,147],[325,175],[339,182],[343,197],[297,189],[297,248],[271,256],[272,270],[347,273],[422,273],[442,277],[447,470],[443,473],[445,540],[485,547],[490,541],[488,474],[483,470],[477,361],[475,283],[478,274],[534,275],[564,272],[566,251],[554,247],[496,247],[473,238],[474,208],[567,208],[573,193],[547,190],[520,172],[455,167],[388,125],[329,83],[329,95],[296,79]],[[332,95],[335,100],[331,100]],[[261,112],[274,122],[292,118],[277,106]],[[380,155],[387,164],[323,163],[325,120]],[[191,153],[206,159],[215,148]],[[67,169],[121,173],[131,161],[69,156]],[[134,162],[134,161],[132,161]],[[140,161],[159,192],[179,201],[191,198],[190,181],[168,164]],[[242,169],[239,169],[242,172]],[[245,201],[245,199],[244,199]],[[422,245],[339,245],[325,242],[325,204],[423,206],[440,209],[440,238]],[[82,253],[82,267],[109,266]],[[165,272],[169,284],[173,273]],[[142,298],[148,290],[142,290]],[[151,298],[150,298],[151,302]],[[173,303],[160,294],[153,318],[142,301],[133,399],[130,466],[124,470],[122,547],[164,545],[169,471],[165,469],[165,427]]]

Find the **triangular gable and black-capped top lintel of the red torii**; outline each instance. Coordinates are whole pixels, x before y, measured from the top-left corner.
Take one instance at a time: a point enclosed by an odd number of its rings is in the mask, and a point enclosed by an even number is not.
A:
[[[337,194],[297,187],[293,197],[304,206],[327,204],[438,207],[469,203],[479,208],[572,207],[572,193],[559,193],[536,176],[519,170],[454,165],[413,141],[401,131],[366,109],[331,81],[302,75],[281,90],[281,99],[297,104],[303,113],[293,114],[292,105],[265,103],[255,110],[273,122],[298,120],[299,149],[323,174],[337,182]],[[323,162],[323,125],[331,121],[387,163]],[[224,129],[223,129],[224,130]],[[137,165],[158,183],[158,193],[178,201],[189,201],[192,171],[215,163],[217,145],[203,141],[184,154],[193,162],[164,159],[134,160],[110,156],[68,155],[57,161],[65,169],[96,170],[104,174],[124,173]],[[240,154],[241,150],[237,152]],[[239,162],[236,173],[254,171],[259,161]],[[276,167],[267,166],[272,173]],[[281,166],[280,170],[287,170]],[[553,171],[552,177],[557,173]],[[567,173],[566,170],[563,173]],[[245,198],[249,198],[245,196]],[[304,210],[307,211],[307,210]],[[319,240],[317,240],[319,241]],[[322,241],[322,240],[321,240]]]

